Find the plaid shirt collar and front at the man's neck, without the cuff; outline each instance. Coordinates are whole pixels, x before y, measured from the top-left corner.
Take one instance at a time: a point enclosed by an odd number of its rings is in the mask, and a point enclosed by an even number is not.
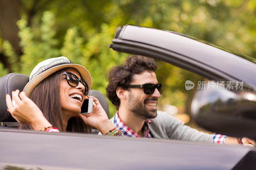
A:
[[[154,138],[153,135],[149,132],[148,127],[151,124],[151,120],[146,120],[142,130],[144,131],[144,138]],[[128,126],[126,126],[124,124],[124,122],[122,122],[122,120],[119,118],[118,116],[118,111],[116,112],[115,116],[114,116],[114,126],[119,126],[120,130],[124,130],[122,131],[123,136],[128,136],[128,137],[140,137],[137,133],[135,133],[134,131],[132,131]]]

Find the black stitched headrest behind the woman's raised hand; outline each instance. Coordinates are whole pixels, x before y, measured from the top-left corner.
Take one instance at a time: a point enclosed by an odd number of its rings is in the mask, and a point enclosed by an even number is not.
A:
[[[22,91],[28,81],[29,77],[20,73],[10,73],[0,78],[0,122],[17,122],[7,111],[5,96],[7,93],[12,96],[12,91],[17,89]]]

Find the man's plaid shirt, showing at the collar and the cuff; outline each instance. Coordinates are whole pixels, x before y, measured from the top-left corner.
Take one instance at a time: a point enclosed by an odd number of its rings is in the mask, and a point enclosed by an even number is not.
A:
[[[122,120],[118,116],[118,111],[114,115],[114,123],[113,124],[114,124],[114,126],[119,126],[120,129],[124,130],[124,131],[122,131],[123,136],[140,137],[137,133],[132,131],[128,126],[126,126],[124,124],[124,122],[122,122]],[[151,120],[148,119],[148,120],[145,121],[145,123],[142,127],[142,129],[144,131],[144,136],[143,136],[144,138],[154,138],[153,135],[149,131],[150,124],[151,124]],[[215,143],[215,144],[224,144],[226,138],[227,138],[226,135],[221,135],[221,134],[214,133],[213,138],[212,138],[212,142]]]

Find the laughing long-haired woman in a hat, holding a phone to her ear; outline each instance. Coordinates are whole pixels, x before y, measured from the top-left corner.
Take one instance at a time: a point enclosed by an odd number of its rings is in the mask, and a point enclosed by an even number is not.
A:
[[[88,96],[92,78],[87,69],[66,57],[44,60],[32,70],[22,92],[6,95],[8,111],[20,129],[90,133],[91,127],[106,135],[122,135],[99,101]],[[92,98],[93,110],[80,114],[84,99]]]

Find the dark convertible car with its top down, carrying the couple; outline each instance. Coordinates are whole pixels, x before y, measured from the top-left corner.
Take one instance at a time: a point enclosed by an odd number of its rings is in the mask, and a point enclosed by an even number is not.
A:
[[[165,61],[212,80],[215,86],[218,81],[243,82],[243,89],[198,89],[191,113],[207,130],[256,139],[256,79],[253,76],[256,60],[253,58],[180,33],[136,25],[118,27],[109,47]],[[24,74],[11,73],[0,78],[0,169],[256,167],[255,147],[12,128],[15,120],[6,111],[5,94],[13,89],[22,90],[27,82],[28,76]]]

